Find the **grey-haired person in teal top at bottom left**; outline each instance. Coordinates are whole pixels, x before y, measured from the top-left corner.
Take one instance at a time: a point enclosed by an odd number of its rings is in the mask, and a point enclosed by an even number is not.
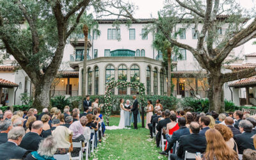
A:
[[[28,154],[25,160],[54,160],[53,155],[56,152],[56,148],[56,140],[52,136],[49,136],[41,141],[38,150]]]

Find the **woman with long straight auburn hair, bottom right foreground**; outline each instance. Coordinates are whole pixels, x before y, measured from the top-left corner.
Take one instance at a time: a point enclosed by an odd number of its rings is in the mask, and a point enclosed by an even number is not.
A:
[[[218,130],[208,129],[205,138],[207,147],[203,159],[238,159],[237,153],[227,146]],[[201,156],[196,156],[196,160],[198,159],[202,159]]]

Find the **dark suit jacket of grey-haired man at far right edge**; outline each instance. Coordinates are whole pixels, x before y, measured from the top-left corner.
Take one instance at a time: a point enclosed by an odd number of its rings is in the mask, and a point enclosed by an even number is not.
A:
[[[244,150],[248,148],[255,150],[253,146],[253,138],[251,138],[253,135],[252,132],[243,132],[242,134],[234,136],[239,154],[243,154]]]

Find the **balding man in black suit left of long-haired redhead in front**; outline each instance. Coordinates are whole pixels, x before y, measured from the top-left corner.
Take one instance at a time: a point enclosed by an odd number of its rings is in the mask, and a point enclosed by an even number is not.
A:
[[[190,153],[204,153],[206,150],[205,136],[201,136],[199,133],[200,126],[196,122],[191,122],[189,125],[189,132],[191,134],[186,136],[180,136],[179,147],[177,154],[171,154],[170,159],[184,159],[186,150]]]

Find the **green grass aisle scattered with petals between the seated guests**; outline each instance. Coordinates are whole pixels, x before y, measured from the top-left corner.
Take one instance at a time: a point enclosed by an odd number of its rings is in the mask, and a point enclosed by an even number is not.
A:
[[[118,117],[111,117],[109,125],[118,125]],[[98,146],[90,159],[168,159],[161,156],[148,129],[116,129],[106,131],[106,140]],[[104,138],[104,139],[105,139]]]

